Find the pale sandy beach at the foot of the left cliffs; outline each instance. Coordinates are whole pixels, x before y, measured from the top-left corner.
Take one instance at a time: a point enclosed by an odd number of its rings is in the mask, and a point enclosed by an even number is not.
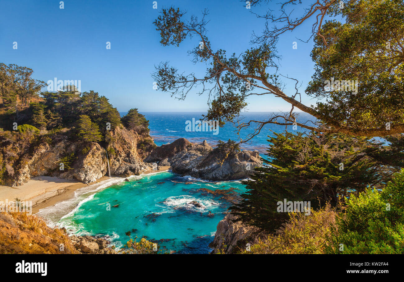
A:
[[[166,171],[170,166],[161,166],[159,170],[147,170],[142,175]],[[74,191],[107,180],[104,176],[97,181],[85,184],[77,180],[66,180],[50,176],[33,177],[27,183],[18,187],[0,185],[0,201],[8,199],[8,202],[19,198],[21,201],[32,201],[32,212],[37,213],[40,208],[53,206],[58,202],[69,200],[74,197]],[[122,178],[123,179],[123,178]]]

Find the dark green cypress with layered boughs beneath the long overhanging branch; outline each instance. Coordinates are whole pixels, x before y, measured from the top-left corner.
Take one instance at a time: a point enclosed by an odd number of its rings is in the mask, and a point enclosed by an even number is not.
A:
[[[375,145],[366,138],[285,132],[268,141],[267,165],[255,168],[256,173],[243,181],[247,192],[230,207],[243,222],[267,231],[288,218],[277,212],[278,201],[310,201],[311,208],[326,202],[336,206],[351,191],[380,187],[389,180],[385,167],[364,154]]]

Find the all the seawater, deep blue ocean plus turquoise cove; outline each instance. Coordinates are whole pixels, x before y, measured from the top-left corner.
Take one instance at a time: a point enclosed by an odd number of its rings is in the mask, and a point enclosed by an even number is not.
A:
[[[187,132],[185,122],[192,118],[198,120],[202,113],[143,114],[149,120],[150,135],[157,145],[181,137],[199,143],[206,140],[210,145],[215,145],[218,140],[238,138],[229,125],[219,128],[217,135],[212,131]],[[245,116],[263,120],[268,115],[248,113]],[[307,114],[299,117],[303,122],[308,119]],[[259,136],[242,148],[265,152],[271,130],[282,132],[284,129],[267,125]],[[244,130],[242,138],[251,132],[252,129]],[[76,190],[74,198],[41,209],[38,215],[46,218],[49,225],[66,227],[77,235],[107,236],[118,248],[128,241],[125,233],[130,231],[132,237],[145,237],[177,253],[209,253],[208,244],[213,241],[217,223],[230,205],[229,198],[215,195],[212,192],[215,190],[227,190],[229,196],[235,196],[244,192],[245,187],[240,181],[208,182],[181,177],[170,171],[133,176],[129,182],[112,177]],[[197,208],[189,204],[192,201],[202,206]]]

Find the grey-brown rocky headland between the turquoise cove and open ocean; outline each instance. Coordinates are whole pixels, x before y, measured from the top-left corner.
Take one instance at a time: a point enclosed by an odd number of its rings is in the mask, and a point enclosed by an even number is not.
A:
[[[225,154],[206,141],[197,144],[184,138],[157,147],[145,161],[170,165],[175,173],[211,181],[243,179],[251,175],[255,167],[262,166],[258,151]]]

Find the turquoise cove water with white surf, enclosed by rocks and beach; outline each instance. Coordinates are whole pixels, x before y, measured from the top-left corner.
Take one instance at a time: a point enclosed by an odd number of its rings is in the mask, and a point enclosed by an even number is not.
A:
[[[130,231],[132,236],[145,236],[177,253],[208,253],[217,223],[230,202],[223,195],[198,190],[201,188],[216,192],[235,188],[233,193],[228,192],[232,196],[245,191],[239,181],[207,182],[171,172],[131,177],[129,182],[79,196],[81,203],[57,225],[78,235],[109,235],[118,247],[128,241],[125,232]],[[191,201],[203,206],[188,204]],[[46,210],[41,212],[46,216]],[[213,215],[208,216],[209,212]]]

